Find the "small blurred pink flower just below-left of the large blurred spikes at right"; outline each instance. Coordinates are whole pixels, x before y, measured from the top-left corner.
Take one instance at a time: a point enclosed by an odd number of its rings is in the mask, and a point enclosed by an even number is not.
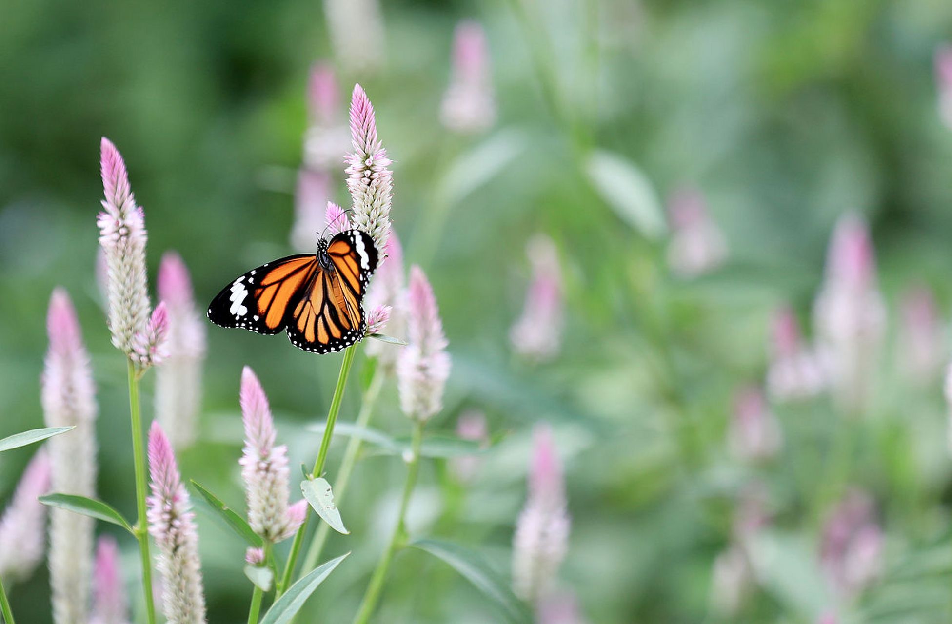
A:
[[[745,388],[738,393],[728,441],[734,456],[745,461],[769,459],[780,450],[780,424],[759,388]]]

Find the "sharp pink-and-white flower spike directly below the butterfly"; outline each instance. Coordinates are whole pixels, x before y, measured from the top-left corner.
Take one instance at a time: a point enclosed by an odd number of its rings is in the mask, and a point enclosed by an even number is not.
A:
[[[259,536],[281,541],[297,531],[307,511],[300,501],[288,508],[288,447],[275,446],[268,397],[254,372],[241,374],[241,411],[245,453],[239,460],[248,495],[248,524]],[[300,507],[300,509],[299,509]]]

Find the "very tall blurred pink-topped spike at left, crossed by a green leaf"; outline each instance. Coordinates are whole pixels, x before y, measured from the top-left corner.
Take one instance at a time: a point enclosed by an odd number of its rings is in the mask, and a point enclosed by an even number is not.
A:
[[[47,314],[50,348],[41,383],[44,419],[50,427],[75,427],[47,442],[52,489],[81,497],[96,495],[97,407],[89,355],[66,291],[57,288]],[[50,511],[50,589],[56,622],[89,616],[93,520],[65,509]]]

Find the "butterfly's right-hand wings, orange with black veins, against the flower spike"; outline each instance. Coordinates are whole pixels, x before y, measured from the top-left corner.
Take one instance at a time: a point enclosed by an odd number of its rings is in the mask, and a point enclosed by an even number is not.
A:
[[[288,317],[290,341],[315,353],[340,351],[364,337],[364,293],[378,261],[373,239],[356,229],[331,238],[327,255],[329,266],[318,269]]]

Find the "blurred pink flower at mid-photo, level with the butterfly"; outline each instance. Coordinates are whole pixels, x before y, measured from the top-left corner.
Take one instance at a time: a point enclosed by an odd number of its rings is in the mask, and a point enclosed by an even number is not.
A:
[[[553,358],[562,342],[562,272],[555,244],[537,234],[526,244],[532,264],[532,282],[526,291],[523,314],[509,331],[518,354],[534,361]]]

